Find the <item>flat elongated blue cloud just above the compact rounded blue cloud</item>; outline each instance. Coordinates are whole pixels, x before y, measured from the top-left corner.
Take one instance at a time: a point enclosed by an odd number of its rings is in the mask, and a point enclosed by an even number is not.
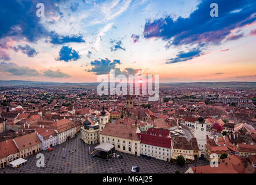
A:
[[[81,43],[81,42],[85,42],[85,40],[83,39],[82,35],[71,35],[71,36],[65,35],[64,36],[64,35],[58,35],[55,32],[52,32],[50,43],[61,45],[69,42]]]

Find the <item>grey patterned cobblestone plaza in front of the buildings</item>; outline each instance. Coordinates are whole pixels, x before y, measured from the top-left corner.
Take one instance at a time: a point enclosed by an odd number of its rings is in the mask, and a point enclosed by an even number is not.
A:
[[[182,167],[167,161],[146,159],[139,156],[120,153],[123,158],[115,158],[110,161],[104,158],[90,156],[93,145],[86,145],[80,140],[81,134],[76,138],[53,147],[53,151],[41,151],[45,156],[46,168],[36,166],[36,154],[25,158],[28,162],[21,166],[21,171],[7,166],[0,169],[6,173],[131,173],[132,166],[139,166],[139,173],[175,173],[179,170],[184,173],[190,166],[209,165],[206,160],[197,160],[192,164]],[[89,152],[90,146],[90,152]],[[96,145],[97,146],[97,145]],[[63,158],[63,148],[66,148],[66,157]],[[76,151],[74,151],[76,150]],[[74,151],[72,153],[72,151]]]

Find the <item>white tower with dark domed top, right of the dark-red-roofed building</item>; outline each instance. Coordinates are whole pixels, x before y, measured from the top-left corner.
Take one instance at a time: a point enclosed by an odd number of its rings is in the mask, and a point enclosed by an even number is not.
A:
[[[198,142],[199,157],[206,156],[206,123],[202,116],[198,118],[195,123],[195,133],[194,136]]]

